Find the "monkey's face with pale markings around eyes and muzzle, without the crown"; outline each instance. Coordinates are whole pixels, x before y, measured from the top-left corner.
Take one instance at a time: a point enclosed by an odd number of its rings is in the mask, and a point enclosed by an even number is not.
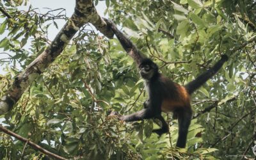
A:
[[[143,79],[150,80],[154,74],[156,74],[156,64],[141,64],[140,65],[140,75]]]

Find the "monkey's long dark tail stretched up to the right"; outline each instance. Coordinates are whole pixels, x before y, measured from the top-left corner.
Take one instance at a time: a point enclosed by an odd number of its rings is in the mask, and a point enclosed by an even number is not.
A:
[[[185,88],[186,88],[187,92],[189,93],[189,95],[191,95],[191,93],[195,92],[195,90],[197,90],[200,86],[202,86],[208,79],[210,79],[212,76],[214,76],[214,74],[216,74],[218,72],[218,70],[220,70],[222,65],[227,60],[228,60],[228,56],[226,54],[223,54],[221,56],[221,59],[212,68],[210,68],[209,70],[207,70],[200,76],[196,77],[195,80],[186,84]]]

